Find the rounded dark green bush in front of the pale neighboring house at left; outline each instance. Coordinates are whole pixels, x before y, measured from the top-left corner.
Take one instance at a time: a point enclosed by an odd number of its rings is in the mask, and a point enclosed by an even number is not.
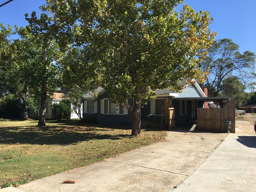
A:
[[[63,119],[65,116],[71,113],[71,103],[67,100],[54,103],[52,104],[52,110],[59,118]]]

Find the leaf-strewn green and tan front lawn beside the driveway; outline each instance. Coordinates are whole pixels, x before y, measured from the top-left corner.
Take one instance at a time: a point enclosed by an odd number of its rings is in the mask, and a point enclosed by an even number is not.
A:
[[[20,185],[87,166],[125,151],[164,141],[166,131],[143,129],[130,137],[123,126],[81,124],[78,120],[0,120],[0,186]]]

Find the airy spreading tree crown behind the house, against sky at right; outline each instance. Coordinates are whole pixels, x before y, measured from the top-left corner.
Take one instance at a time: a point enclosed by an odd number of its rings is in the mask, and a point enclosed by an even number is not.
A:
[[[224,83],[227,78],[226,81],[239,79],[247,88],[255,84],[255,54],[249,51],[241,54],[238,50],[239,46],[231,39],[219,39],[213,42],[208,50],[209,54],[200,63],[204,71],[210,72],[204,83],[208,88],[209,96],[219,96],[219,93],[229,85]]]

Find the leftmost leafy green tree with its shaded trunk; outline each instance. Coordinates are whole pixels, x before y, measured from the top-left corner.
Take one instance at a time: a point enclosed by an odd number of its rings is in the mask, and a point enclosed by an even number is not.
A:
[[[0,30],[6,31],[4,25],[0,26]],[[15,94],[23,101],[22,120],[28,119],[29,97],[35,94],[38,85],[36,83],[37,76],[36,64],[38,62],[38,49],[33,45],[31,38],[24,35],[25,28],[15,27],[15,31],[8,28],[8,35],[5,41],[8,42],[2,52],[0,60],[0,71],[3,74],[1,80],[2,90],[5,93]],[[12,39],[11,35],[19,35],[19,39]]]

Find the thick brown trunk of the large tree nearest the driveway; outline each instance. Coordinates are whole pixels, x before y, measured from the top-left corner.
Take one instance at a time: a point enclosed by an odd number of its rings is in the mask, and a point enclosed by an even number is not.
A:
[[[141,133],[141,100],[135,101],[132,110],[132,136],[142,135]]]

